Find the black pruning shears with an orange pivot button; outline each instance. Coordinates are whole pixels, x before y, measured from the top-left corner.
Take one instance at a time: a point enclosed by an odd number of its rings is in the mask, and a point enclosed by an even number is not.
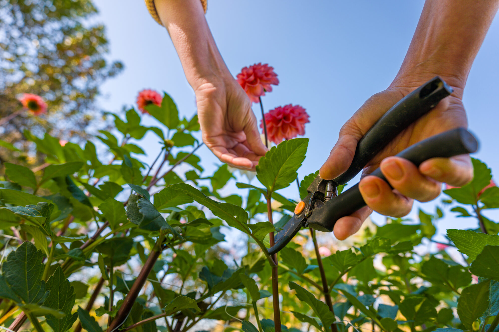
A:
[[[307,196],[298,202],[291,219],[277,232],[275,244],[268,249],[269,254],[273,255],[284,248],[301,227],[332,232],[339,218],[365,206],[358,183],[340,195],[337,195],[337,186],[351,180],[397,135],[452,92],[453,89],[437,76],[388,110],[359,141],[352,164],[343,174],[333,180],[317,176],[312,181],[307,188]],[[458,128],[416,143],[397,156],[419,166],[431,158],[450,158],[477,150],[478,142],[475,137],[466,129]],[[371,174],[386,180],[379,168]]]

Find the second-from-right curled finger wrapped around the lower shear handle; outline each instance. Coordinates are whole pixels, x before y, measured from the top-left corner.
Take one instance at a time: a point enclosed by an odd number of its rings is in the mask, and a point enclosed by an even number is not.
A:
[[[421,174],[407,159],[388,157],[381,162],[380,168],[392,187],[404,196],[428,202],[440,195],[442,183]]]

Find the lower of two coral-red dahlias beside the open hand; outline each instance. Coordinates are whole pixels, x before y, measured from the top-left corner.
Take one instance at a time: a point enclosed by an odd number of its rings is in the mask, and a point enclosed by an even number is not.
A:
[[[305,109],[299,105],[286,105],[276,107],[265,113],[268,139],[275,144],[282,140],[290,140],[298,135],[305,135],[305,124],[309,123],[309,116]],[[263,121],[260,123],[263,128]]]

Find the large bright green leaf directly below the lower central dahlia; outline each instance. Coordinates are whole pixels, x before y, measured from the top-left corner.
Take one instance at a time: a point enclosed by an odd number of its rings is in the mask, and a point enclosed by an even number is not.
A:
[[[270,191],[287,187],[296,179],[296,171],[305,159],[308,139],[283,141],[260,158],[256,177]]]

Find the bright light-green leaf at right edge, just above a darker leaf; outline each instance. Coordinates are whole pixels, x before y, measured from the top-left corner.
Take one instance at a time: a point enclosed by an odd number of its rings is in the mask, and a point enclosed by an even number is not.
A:
[[[468,255],[472,260],[477,258],[477,255],[482,252],[486,245],[499,245],[498,235],[487,235],[472,230],[448,229],[447,236],[460,252]]]

